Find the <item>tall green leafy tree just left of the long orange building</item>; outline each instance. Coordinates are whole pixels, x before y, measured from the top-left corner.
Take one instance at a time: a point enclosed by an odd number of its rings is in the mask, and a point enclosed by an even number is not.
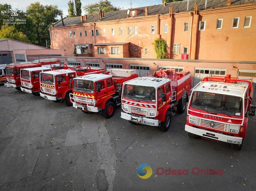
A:
[[[31,20],[30,32],[36,35],[38,45],[45,46],[45,40],[50,40],[49,28],[57,21],[62,10],[57,5],[42,5],[39,2],[31,3],[26,9],[27,17]]]

